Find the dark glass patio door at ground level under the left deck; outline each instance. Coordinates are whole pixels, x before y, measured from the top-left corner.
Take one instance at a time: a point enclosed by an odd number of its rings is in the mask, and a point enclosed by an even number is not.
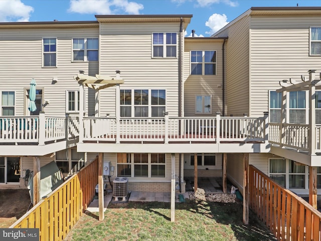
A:
[[[20,157],[0,157],[0,183],[19,183],[20,176]]]

